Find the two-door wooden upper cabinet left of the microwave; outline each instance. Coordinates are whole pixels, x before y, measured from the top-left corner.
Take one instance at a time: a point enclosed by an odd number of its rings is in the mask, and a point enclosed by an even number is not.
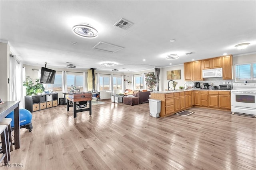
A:
[[[200,81],[202,77],[202,61],[184,63],[185,81]]]

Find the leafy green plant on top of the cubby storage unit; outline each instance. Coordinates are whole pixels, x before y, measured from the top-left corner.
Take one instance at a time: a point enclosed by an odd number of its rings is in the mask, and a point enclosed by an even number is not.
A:
[[[36,95],[37,93],[42,93],[44,91],[44,85],[39,83],[39,79],[36,79],[35,83],[33,80],[26,76],[26,81],[23,81],[23,86],[26,87],[26,95]]]

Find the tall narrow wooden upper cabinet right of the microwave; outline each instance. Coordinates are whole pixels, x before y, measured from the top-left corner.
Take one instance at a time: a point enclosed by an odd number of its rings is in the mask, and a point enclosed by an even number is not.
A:
[[[232,76],[232,55],[222,57],[223,62],[223,80],[233,79]]]

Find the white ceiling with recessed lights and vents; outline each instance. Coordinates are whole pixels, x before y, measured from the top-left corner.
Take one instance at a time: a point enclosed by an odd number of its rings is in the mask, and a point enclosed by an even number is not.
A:
[[[256,52],[256,1],[1,0],[0,14],[1,40],[22,63],[40,67],[47,62],[47,67],[66,68],[70,62],[77,69],[132,72]],[[120,18],[134,24],[127,30],[113,26]],[[81,23],[96,28],[98,37],[75,35],[72,26]],[[93,49],[99,42],[124,49]],[[234,47],[245,42],[250,43],[246,49]],[[165,59],[173,53],[179,59]],[[108,62],[120,65],[100,65]]]

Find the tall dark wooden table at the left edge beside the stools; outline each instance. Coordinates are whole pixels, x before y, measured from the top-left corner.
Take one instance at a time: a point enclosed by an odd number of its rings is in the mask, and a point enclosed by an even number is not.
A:
[[[0,121],[14,111],[14,147],[20,148],[20,101],[4,101],[0,103]]]

